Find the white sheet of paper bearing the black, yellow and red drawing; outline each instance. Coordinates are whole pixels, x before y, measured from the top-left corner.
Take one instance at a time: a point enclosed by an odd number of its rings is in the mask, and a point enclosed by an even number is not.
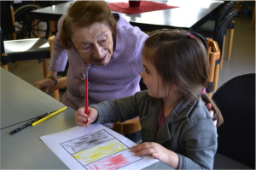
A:
[[[101,124],[73,127],[40,139],[70,169],[142,169],[158,161],[134,156],[134,142]]]

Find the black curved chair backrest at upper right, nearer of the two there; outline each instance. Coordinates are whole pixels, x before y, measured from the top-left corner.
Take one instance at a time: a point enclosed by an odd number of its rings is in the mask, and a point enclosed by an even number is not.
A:
[[[224,19],[219,23],[217,29],[214,31],[214,37],[213,40],[218,42],[218,47],[220,49],[220,52],[223,51],[223,43],[224,43],[224,35],[227,27],[230,25],[231,19],[238,13],[238,10],[236,8],[233,8],[230,10],[230,12],[224,17]],[[216,64],[218,65],[221,58],[216,60]]]

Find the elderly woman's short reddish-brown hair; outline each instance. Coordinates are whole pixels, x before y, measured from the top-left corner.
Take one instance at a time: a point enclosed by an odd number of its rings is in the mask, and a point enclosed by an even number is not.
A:
[[[68,8],[61,28],[60,41],[64,48],[74,48],[71,37],[73,30],[90,26],[96,22],[106,24],[116,34],[116,20],[104,1],[76,1]]]

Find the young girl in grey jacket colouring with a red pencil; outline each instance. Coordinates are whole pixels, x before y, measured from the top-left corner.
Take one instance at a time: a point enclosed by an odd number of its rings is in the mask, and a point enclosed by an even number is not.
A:
[[[80,108],[78,125],[139,116],[143,143],[131,148],[136,156],[154,156],[175,169],[212,169],[217,133],[201,96],[215,108],[218,126],[223,118],[205,94],[206,48],[188,32],[156,31],[144,43],[143,66],[147,91],[90,105],[89,116]]]

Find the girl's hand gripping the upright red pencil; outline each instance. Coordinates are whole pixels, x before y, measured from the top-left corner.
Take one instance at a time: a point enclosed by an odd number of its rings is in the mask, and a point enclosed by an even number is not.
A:
[[[88,124],[95,122],[98,116],[98,111],[95,108],[88,107],[89,116],[84,111],[84,107],[81,107],[75,114],[75,121],[79,127],[87,127]]]

